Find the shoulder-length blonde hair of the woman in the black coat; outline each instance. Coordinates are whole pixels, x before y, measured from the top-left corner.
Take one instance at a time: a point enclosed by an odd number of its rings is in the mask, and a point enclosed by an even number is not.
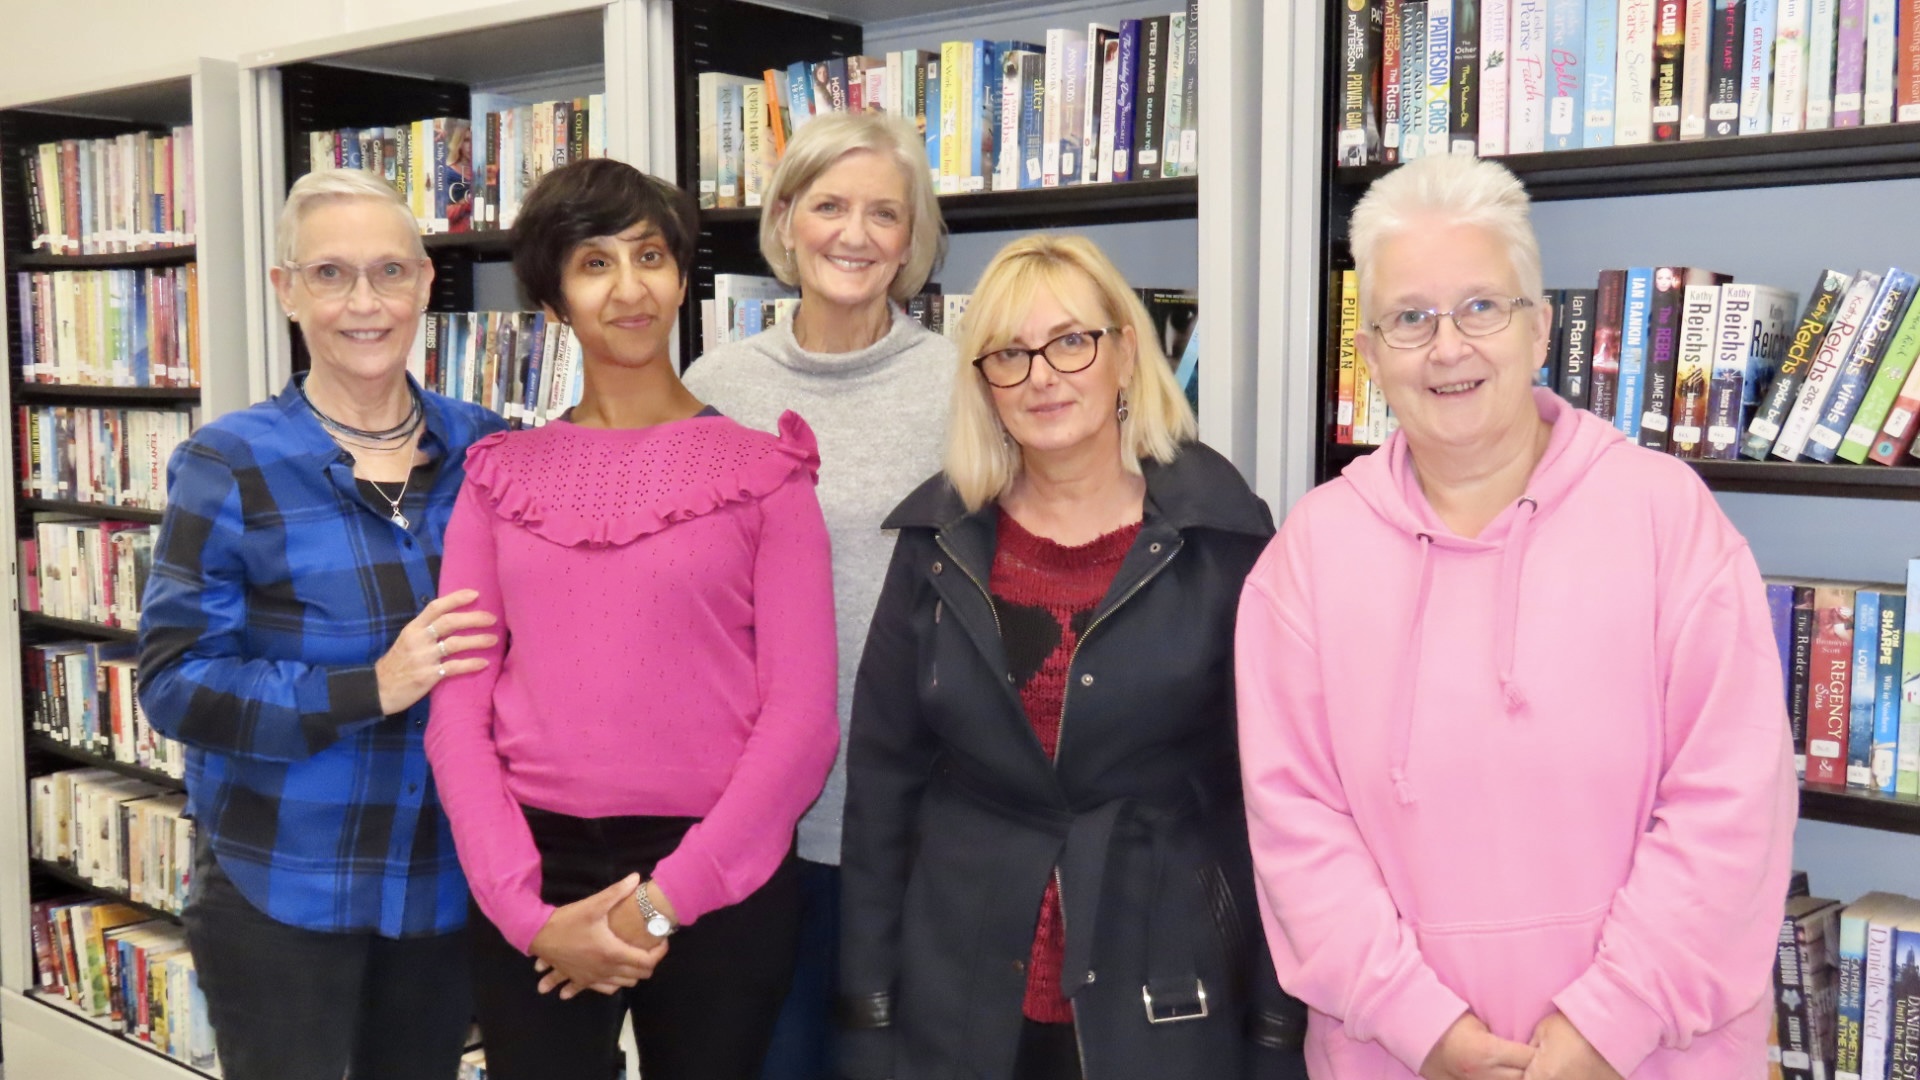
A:
[[[1068,309],[1069,315],[1089,329],[1133,331],[1133,375],[1121,388],[1127,419],[1119,421],[1119,465],[1133,475],[1140,473],[1142,457],[1165,465],[1179,455],[1183,442],[1194,438],[1198,425],[1160,350],[1160,331],[1106,254],[1085,236],[1021,236],[987,263],[960,319],[960,377],[954,379],[947,423],[947,479],[970,511],[1004,496],[1020,477],[1020,448],[1006,438],[993,390],[973,369],[973,357],[1012,344],[1043,288],[1068,306],[1081,296],[1077,284],[1092,286],[1098,309]],[[1108,340],[1114,338],[1108,334]]]

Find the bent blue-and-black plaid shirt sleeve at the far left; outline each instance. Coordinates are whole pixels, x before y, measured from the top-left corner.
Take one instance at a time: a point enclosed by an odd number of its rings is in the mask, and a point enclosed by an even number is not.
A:
[[[167,463],[167,517],[140,601],[140,707],[200,749],[300,761],[378,723],[372,665],[246,655],[248,567],[234,467],[207,440]]]

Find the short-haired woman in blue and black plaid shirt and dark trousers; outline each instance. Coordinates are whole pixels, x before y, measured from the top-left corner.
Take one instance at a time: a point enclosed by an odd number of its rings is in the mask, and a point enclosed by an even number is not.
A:
[[[434,582],[467,448],[505,425],[407,377],[432,277],[378,177],[301,177],[273,282],[311,367],[167,467],[140,703],[188,746],[184,922],[227,1080],[459,1072],[467,882],[422,734],[495,644]]]

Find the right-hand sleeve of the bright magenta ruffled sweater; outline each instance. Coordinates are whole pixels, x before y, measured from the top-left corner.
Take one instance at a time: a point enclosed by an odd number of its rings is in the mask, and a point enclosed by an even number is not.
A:
[[[653,871],[682,922],[739,903],[774,876],[839,751],[833,559],[810,469],[760,500],[753,626],[753,734],[720,799]]]

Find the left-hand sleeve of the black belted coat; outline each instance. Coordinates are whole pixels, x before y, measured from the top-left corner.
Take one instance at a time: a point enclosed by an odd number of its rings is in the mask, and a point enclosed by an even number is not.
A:
[[[847,817],[841,832],[841,1072],[893,1076],[893,988],[900,913],[920,832],[920,799],[939,753],[922,721],[914,646],[914,544],[893,548],[887,582],[860,653],[847,740]]]

